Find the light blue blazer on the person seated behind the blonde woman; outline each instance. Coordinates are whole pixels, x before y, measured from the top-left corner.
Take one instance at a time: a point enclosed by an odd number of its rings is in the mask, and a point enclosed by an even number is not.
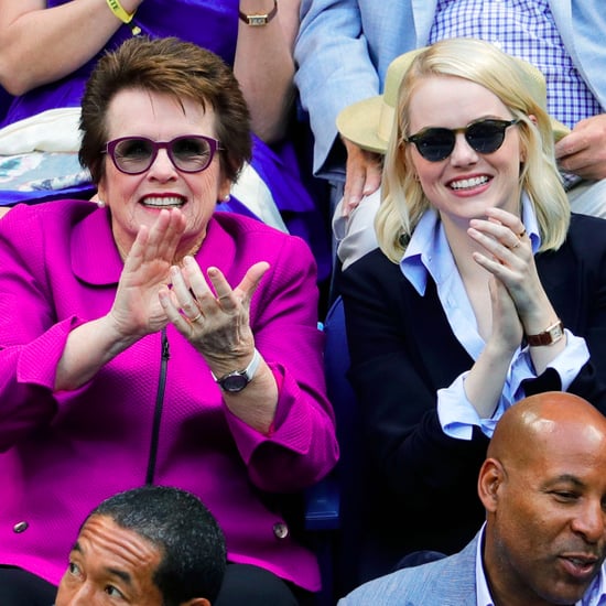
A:
[[[344,178],[328,154],[335,120],[348,105],[379,95],[397,56],[428,43],[437,0],[302,0],[295,83],[314,133],[314,173]],[[566,51],[606,108],[604,0],[549,0]]]

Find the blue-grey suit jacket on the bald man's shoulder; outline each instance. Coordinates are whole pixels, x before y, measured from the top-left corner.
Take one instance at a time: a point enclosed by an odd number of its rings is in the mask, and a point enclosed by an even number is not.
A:
[[[479,534],[454,555],[365,583],[338,606],[476,606]]]

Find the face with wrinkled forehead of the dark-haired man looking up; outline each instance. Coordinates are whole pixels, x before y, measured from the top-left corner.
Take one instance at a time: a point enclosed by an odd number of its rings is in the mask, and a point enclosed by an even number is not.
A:
[[[156,547],[106,516],[90,517],[69,554],[55,606],[161,606]]]

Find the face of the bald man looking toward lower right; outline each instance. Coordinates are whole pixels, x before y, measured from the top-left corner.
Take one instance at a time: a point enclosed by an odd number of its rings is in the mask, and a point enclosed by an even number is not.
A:
[[[497,603],[575,604],[606,555],[604,422],[542,424],[504,464],[487,507],[485,566]]]

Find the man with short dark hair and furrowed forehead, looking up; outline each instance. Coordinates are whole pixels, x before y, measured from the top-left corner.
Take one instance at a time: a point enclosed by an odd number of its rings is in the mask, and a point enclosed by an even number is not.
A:
[[[56,606],[210,606],[226,567],[223,532],[194,495],[144,486],[102,501],[69,554]]]

